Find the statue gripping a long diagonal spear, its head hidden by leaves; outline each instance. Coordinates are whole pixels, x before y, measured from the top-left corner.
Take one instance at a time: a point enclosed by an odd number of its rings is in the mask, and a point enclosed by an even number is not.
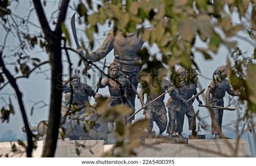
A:
[[[171,87],[171,84],[169,81],[166,79],[161,82],[161,91],[159,92],[150,92],[149,95],[147,95],[147,101],[146,104],[151,102],[152,100],[158,98],[160,94],[163,94],[167,89]],[[157,89],[156,89],[157,90]],[[144,103],[144,94],[145,90],[142,89],[139,93],[139,99],[140,102],[142,103],[142,107],[145,107]],[[145,118],[148,119],[149,125],[147,125],[147,132],[149,132],[149,139],[152,139],[152,129],[153,129],[153,122],[155,121],[157,123],[157,126],[159,127],[159,135],[157,136],[158,138],[163,138],[162,133],[165,131],[166,126],[167,126],[167,116],[166,116],[166,108],[164,104],[164,95],[161,96],[159,99],[151,103],[151,105],[147,106],[144,109],[143,114],[145,115]]]

